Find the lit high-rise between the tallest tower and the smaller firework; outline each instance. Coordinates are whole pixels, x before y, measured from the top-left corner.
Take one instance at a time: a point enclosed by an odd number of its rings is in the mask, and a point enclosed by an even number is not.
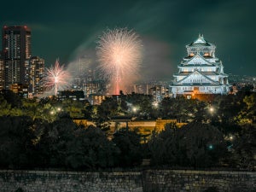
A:
[[[29,79],[29,93],[32,96],[38,96],[43,94],[44,84],[42,79],[44,78],[44,59],[38,56],[32,56],[29,60],[28,79]]]

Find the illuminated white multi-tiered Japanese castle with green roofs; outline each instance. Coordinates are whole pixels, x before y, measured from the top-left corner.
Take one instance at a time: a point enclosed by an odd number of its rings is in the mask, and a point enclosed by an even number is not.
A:
[[[214,44],[208,43],[202,35],[186,45],[188,56],[178,65],[170,84],[172,96],[195,94],[228,94],[230,84],[224,73],[222,62],[215,57]]]

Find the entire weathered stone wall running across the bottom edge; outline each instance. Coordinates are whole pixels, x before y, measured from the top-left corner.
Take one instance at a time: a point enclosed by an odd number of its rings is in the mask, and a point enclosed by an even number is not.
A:
[[[145,170],[143,172],[0,171],[0,192],[200,192],[211,187],[219,192],[253,192],[256,191],[256,172],[183,170]]]

